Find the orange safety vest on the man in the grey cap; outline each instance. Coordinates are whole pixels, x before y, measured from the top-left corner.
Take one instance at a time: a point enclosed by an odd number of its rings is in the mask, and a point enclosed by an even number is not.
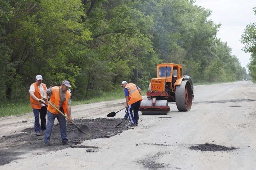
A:
[[[69,91],[66,92],[66,100],[63,102],[63,110],[64,113],[66,113],[68,115],[68,99],[70,98],[71,94]],[[51,99],[50,102],[57,107],[58,109],[60,109],[60,87],[59,86],[54,86],[52,87],[52,94],[51,94]],[[54,107],[52,107],[51,105],[48,105],[47,110],[53,114],[58,115],[59,112],[58,110],[56,110]]]

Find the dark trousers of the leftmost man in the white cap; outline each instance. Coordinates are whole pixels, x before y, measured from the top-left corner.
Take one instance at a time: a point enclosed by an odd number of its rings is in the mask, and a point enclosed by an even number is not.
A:
[[[46,113],[47,113],[47,109],[45,106],[43,106],[41,109],[33,109],[33,113],[35,116],[35,124],[34,124],[34,129],[36,133],[40,133],[41,130],[45,130],[45,124],[46,124]],[[41,125],[40,125],[40,121],[39,121],[39,116],[41,119]]]

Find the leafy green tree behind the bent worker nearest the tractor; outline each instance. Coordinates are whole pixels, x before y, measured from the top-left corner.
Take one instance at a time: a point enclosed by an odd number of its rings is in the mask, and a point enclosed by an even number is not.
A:
[[[102,2],[85,5],[85,11],[90,11],[85,21],[92,30],[93,40],[88,43],[91,51],[87,54],[89,57],[86,62],[80,64],[82,73],[76,84],[79,84],[77,91],[85,93],[86,98],[113,86],[120,86],[124,79],[136,82],[138,59],[138,78],[141,83],[144,82],[143,74],[151,72],[151,66],[155,67],[152,61],[157,60],[148,33],[148,30],[153,29],[150,16],[146,17],[123,3],[99,3]],[[143,67],[144,62],[149,63],[149,67]],[[100,76],[97,72],[101,73]]]

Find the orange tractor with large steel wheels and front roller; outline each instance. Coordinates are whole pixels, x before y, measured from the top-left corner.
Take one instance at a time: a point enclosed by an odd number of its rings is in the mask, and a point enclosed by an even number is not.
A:
[[[166,115],[168,102],[176,102],[179,111],[189,111],[194,100],[193,82],[182,75],[182,66],[173,63],[157,64],[157,78],[148,86],[147,99],[142,100],[142,115]]]

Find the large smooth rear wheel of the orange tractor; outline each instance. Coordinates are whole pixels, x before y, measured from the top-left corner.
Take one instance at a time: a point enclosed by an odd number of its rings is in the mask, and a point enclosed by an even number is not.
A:
[[[181,81],[181,85],[176,85],[176,106],[179,111],[189,111],[192,106],[192,89],[189,81]]]

